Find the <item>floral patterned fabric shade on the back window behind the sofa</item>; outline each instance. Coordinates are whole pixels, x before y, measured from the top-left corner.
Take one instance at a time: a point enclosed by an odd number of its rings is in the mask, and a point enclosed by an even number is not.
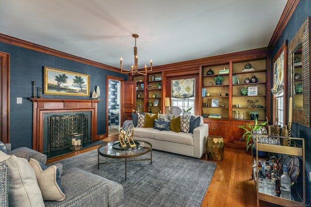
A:
[[[172,80],[172,97],[190,98],[194,97],[194,81],[195,79]]]

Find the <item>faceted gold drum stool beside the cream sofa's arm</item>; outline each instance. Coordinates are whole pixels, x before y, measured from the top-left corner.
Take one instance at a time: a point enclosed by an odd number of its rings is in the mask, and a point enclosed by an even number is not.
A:
[[[206,154],[208,159],[215,161],[223,160],[225,154],[223,137],[208,135],[206,142]]]

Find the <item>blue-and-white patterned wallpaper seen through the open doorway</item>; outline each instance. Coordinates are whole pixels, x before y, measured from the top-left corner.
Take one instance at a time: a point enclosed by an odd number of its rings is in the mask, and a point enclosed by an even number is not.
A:
[[[108,109],[109,110],[118,110],[120,111],[120,104],[117,104],[117,97],[121,96],[118,94],[118,85],[120,87],[119,80],[109,80],[108,84]],[[120,92],[119,92],[120,93]],[[118,126],[120,117],[118,116],[120,113],[109,113],[109,126]],[[111,116],[112,115],[112,116]],[[118,116],[118,117],[117,117]]]

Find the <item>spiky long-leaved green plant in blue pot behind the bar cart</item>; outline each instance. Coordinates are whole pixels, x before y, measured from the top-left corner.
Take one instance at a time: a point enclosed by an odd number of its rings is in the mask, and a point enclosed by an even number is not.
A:
[[[242,128],[245,130],[245,133],[243,134],[241,140],[246,141],[246,151],[250,146],[253,148],[253,153],[255,148],[255,144],[252,142],[252,131],[260,129],[261,127],[264,127],[267,124],[267,122],[263,122],[261,124],[258,124],[258,120],[255,118],[255,123],[254,126],[250,124],[246,124],[245,126],[240,126],[239,128]],[[255,150],[256,154],[256,150]],[[263,151],[258,151],[258,156],[259,157],[266,157],[266,152]]]

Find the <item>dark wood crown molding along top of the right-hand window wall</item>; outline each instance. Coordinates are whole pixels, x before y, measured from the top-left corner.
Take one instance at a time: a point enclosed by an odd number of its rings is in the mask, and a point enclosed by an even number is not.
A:
[[[276,25],[276,29],[273,32],[273,35],[270,39],[270,42],[268,45],[269,49],[272,49],[276,45],[278,38],[281,36],[281,34],[282,34],[284,28],[286,27],[289,19],[293,15],[293,13],[297,7],[298,2],[299,2],[299,0],[288,0],[287,1],[285,8],[282,12],[282,15],[281,15],[281,17],[278,20],[278,23]]]

